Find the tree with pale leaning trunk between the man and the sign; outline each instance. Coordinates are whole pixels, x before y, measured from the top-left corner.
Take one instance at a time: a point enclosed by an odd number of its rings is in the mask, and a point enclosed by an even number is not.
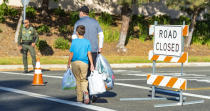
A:
[[[126,52],[125,42],[127,38],[129,22],[131,20],[132,9],[135,6],[142,5],[144,3],[154,2],[159,0],[118,0],[118,3],[122,5],[121,16],[122,16],[122,25],[120,30],[120,37],[117,44],[118,52]]]

